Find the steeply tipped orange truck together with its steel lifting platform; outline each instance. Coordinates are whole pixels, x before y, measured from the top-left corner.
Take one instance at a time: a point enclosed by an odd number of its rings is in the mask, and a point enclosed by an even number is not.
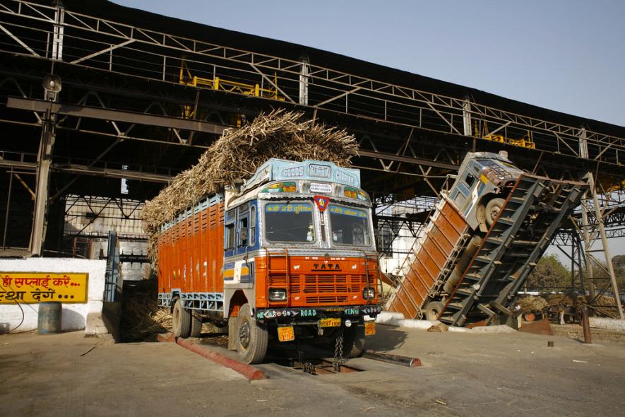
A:
[[[511,301],[588,185],[487,152],[468,153],[451,180],[386,310],[456,326],[511,323]]]

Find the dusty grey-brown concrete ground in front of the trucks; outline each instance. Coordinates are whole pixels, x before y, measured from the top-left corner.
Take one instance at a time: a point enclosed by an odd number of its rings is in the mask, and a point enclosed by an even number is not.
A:
[[[379,326],[368,347],[416,356],[423,366],[359,358],[348,364],[364,372],[312,376],[264,363],[258,368],[270,379],[248,382],[174,343],[113,344],[81,332],[5,334],[0,404],[3,416],[625,413],[624,344]]]

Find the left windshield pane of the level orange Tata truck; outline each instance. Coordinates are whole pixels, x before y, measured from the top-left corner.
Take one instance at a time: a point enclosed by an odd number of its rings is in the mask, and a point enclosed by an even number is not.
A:
[[[314,242],[312,205],[290,201],[266,204],[265,236],[269,242]]]

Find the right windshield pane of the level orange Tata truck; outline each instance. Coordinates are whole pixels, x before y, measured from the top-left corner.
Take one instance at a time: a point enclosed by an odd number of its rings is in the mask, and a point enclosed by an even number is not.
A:
[[[330,226],[332,241],[337,245],[370,246],[369,216],[367,211],[332,204]]]

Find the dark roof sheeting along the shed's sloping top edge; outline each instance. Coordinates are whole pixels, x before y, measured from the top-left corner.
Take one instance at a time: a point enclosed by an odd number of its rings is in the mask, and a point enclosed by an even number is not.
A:
[[[40,4],[49,4],[48,1],[37,2]],[[225,47],[269,54],[285,59],[299,60],[301,57],[306,56],[309,58],[311,64],[323,66],[335,71],[342,71],[378,81],[392,82],[398,86],[415,88],[417,90],[440,95],[448,95],[453,98],[465,98],[469,96],[473,101],[482,105],[496,107],[508,112],[548,120],[549,122],[564,124],[570,127],[585,126],[591,131],[625,138],[625,127],[544,109],[524,102],[503,98],[499,95],[487,93],[475,88],[460,86],[455,83],[448,83],[435,78],[392,69],[388,66],[373,64],[321,49],[162,16],[148,11],[141,11],[136,8],[120,6],[107,0],[64,0],[64,4],[66,8],[71,11],[97,16],[118,23],[189,37],[190,39],[203,40]]]

